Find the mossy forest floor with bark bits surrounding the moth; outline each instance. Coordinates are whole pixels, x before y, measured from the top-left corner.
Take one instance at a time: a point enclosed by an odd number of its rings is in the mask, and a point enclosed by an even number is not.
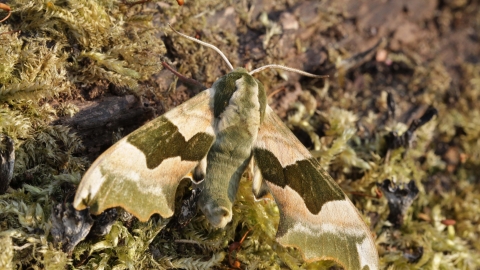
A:
[[[15,143],[15,167],[0,195],[1,269],[335,267],[276,244],[278,209],[253,200],[248,175],[224,230],[201,213],[179,226],[178,216],[143,223],[119,210],[104,236],[80,241],[90,230],[81,224],[58,231],[91,162],[203,89],[162,62],[207,88],[229,72],[168,23],[217,46],[234,67],[329,75],[268,70],[256,78],[367,221],[382,269],[480,268],[478,1],[5,4],[0,132]],[[0,142],[6,159],[6,137]],[[191,190],[181,185],[177,208]]]

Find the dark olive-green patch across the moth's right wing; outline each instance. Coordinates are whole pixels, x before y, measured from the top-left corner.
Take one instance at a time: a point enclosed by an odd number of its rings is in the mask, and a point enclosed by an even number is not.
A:
[[[289,186],[305,201],[308,210],[316,215],[329,201],[345,200],[342,190],[322,173],[315,159],[299,160],[282,167],[275,155],[266,149],[255,149],[255,160],[265,180],[284,188]]]

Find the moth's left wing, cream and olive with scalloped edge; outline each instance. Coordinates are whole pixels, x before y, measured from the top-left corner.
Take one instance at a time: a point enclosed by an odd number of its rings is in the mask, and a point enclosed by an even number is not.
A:
[[[85,173],[75,208],[99,214],[121,206],[142,221],[172,216],[178,184],[215,139],[212,95],[201,92],[105,151]]]

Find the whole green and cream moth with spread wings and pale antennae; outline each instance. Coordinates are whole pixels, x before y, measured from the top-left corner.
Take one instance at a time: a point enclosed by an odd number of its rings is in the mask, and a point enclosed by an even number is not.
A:
[[[209,222],[225,227],[240,178],[254,159],[253,194],[271,193],[280,210],[276,239],[307,261],[334,260],[346,269],[378,269],[368,227],[345,193],[267,104],[262,83],[233,69],[211,88],[140,127],[106,150],[85,173],[74,199],[93,214],[123,207],[139,220],[173,215],[178,184],[193,172],[203,180],[198,205]],[[321,76],[317,76],[321,77]]]

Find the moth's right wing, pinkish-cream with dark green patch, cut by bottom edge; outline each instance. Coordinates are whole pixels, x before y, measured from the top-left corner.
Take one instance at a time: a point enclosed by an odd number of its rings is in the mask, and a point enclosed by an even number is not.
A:
[[[268,106],[254,157],[280,209],[278,242],[297,247],[307,261],[378,269],[371,232],[355,206]],[[254,184],[254,193],[261,195],[261,186]]]

